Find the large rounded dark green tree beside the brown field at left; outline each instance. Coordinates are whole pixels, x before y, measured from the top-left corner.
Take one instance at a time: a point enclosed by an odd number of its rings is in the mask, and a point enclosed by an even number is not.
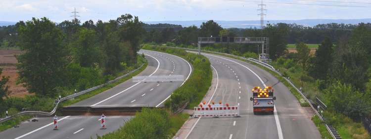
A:
[[[19,28],[20,49],[16,55],[17,83],[24,83],[29,93],[54,97],[55,87],[63,84],[63,69],[68,63],[65,35],[46,17],[32,18]]]

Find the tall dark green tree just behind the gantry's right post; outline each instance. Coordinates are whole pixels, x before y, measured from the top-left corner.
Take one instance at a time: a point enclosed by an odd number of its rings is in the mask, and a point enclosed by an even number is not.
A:
[[[279,25],[267,24],[263,33],[265,37],[269,37],[269,55],[274,61],[285,55],[287,51],[287,28]]]

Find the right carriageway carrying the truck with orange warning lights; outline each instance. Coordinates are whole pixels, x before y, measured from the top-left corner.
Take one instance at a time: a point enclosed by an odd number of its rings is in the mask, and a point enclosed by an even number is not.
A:
[[[240,60],[202,54],[209,58],[215,71],[212,89],[204,101],[239,104],[241,117],[190,119],[179,139],[321,139],[310,119],[314,112],[301,107],[288,88],[271,73]],[[275,90],[273,115],[253,114],[249,98],[254,86],[272,86]]]

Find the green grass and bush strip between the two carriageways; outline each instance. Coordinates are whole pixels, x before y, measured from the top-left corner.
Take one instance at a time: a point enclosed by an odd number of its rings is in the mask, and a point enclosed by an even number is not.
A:
[[[170,117],[181,104],[189,102],[190,108],[198,105],[206,95],[212,80],[210,61],[185,50],[164,46],[144,45],[142,49],[165,52],[180,56],[190,62],[193,73],[185,83],[174,90],[170,99],[165,101],[165,108],[142,108],[135,117],[125,121],[125,125],[112,133],[97,136],[97,139],[171,139],[189,118],[188,114],[179,113]],[[205,59],[205,62],[202,60]]]

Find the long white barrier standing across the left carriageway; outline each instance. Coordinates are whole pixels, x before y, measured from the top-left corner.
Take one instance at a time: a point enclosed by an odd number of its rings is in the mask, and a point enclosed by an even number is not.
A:
[[[133,82],[174,82],[174,81],[184,81],[184,75],[133,77]]]

